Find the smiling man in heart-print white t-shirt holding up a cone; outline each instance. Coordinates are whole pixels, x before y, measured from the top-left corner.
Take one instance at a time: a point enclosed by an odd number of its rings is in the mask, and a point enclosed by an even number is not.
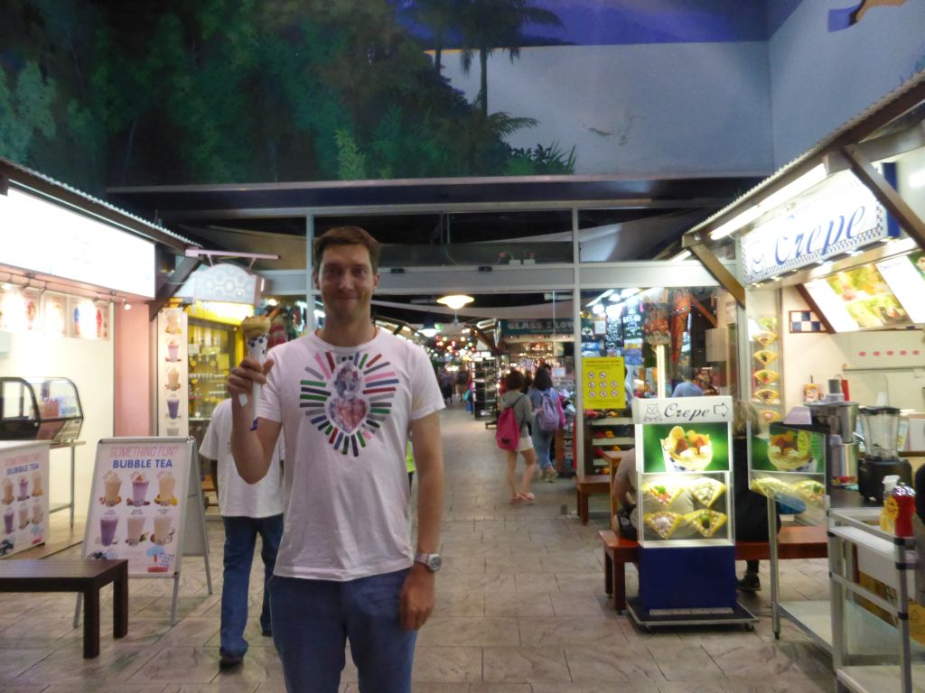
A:
[[[263,367],[243,359],[228,378],[240,476],[263,478],[280,431],[286,444],[288,499],[270,609],[286,688],[299,693],[339,689],[348,639],[364,693],[408,693],[416,631],[434,607],[445,405],[424,350],[371,320],[378,256],[376,240],[356,226],[318,237],[312,274],[324,326],[277,346]],[[238,399],[253,383],[264,384],[256,412]]]

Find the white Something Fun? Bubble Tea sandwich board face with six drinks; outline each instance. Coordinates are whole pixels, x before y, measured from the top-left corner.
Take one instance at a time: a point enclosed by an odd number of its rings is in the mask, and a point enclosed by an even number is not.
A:
[[[97,445],[85,558],[127,559],[131,576],[173,576],[192,449],[182,439],[109,439]]]

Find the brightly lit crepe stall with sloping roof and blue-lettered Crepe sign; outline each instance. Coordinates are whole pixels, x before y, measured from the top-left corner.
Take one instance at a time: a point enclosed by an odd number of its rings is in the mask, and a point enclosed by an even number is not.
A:
[[[858,693],[925,677],[923,103],[919,79],[685,235],[708,267],[737,258],[742,285],[717,277],[745,304],[750,485],[833,538],[830,599],[800,602],[771,541],[774,632],[802,628]]]

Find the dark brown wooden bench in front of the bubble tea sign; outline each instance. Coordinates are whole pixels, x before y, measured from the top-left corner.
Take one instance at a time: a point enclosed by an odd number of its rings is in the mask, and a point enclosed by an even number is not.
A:
[[[0,592],[83,595],[83,656],[87,659],[100,653],[100,590],[110,582],[113,583],[113,637],[123,638],[129,632],[128,561],[0,561]]]

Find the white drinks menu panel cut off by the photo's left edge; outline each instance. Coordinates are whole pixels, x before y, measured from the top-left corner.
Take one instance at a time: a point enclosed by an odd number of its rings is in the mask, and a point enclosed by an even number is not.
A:
[[[0,442],[3,539],[0,556],[45,541],[48,530],[48,444]]]

